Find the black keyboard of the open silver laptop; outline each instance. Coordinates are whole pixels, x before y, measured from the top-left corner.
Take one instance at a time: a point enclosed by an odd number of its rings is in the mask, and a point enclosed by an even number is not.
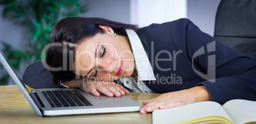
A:
[[[42,93],[53,108],[92,106],[78,90],[48,90]]]

